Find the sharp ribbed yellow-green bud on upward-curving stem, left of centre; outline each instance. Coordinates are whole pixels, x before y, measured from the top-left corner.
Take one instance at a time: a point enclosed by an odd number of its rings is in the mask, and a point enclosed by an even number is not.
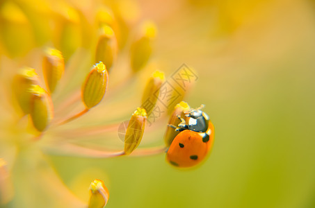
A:
[[[103,62],[96,64],[82,87],[83,103],[88,109],[102,101],[108,83],[108,72]]]

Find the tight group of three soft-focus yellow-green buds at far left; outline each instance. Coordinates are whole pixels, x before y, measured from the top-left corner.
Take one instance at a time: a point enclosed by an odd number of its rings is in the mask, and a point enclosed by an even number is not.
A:
[[[40,86],[35,69],[24,67],[13,79],[13,93],[17,103],[23,114],[30,114],[33,126],[39,132],[45,131],[54,117],[51,94],[65,70],[63,56],[56,49],[47,49],[42,63],[48,92]]]

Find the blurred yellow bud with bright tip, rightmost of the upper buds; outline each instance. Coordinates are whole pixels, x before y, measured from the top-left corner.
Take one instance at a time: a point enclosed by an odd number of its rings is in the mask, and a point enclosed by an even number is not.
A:
[[[153,23],[147,22],[143,25],[142,34],[131,45],[131,69],[134,72],[140,71],[152,54],[152,40],[156,35],[156,28]]]

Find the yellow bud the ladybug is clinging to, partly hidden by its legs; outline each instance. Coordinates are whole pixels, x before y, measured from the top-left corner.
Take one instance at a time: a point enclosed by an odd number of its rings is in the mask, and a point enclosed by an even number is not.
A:
[[[170,125],[179,125],[181,122],[177,116],[181,116],[183,119],[187,119],[184,112],[187,112],[191,107],[189,107],[188,103],[181,101],[177,105],[175,105],[175,108],[172,112],[172,115],[170,116],[170,120],[168,121],[168,124]],[[164,135],[164,141],[166,146],[170,146],[172,144],[173,139],[179,134],[179,132],[175,131],[174,128],[171,128],[170,126],[167,127],[165,135]]]

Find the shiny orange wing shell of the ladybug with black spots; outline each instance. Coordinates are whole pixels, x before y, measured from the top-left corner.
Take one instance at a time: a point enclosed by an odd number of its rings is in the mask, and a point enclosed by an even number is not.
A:
[[[209,141],[202,141],[198,132],[184,130],[180,132],[170,144],[166,159],[170,164],[177,167],[191,167],[204,160],[212,148],[213,125],[210,122],[208,131]]]

